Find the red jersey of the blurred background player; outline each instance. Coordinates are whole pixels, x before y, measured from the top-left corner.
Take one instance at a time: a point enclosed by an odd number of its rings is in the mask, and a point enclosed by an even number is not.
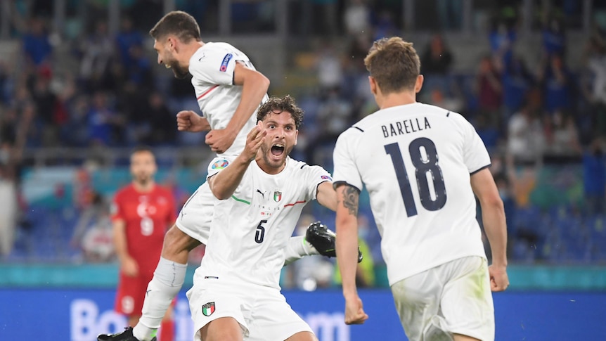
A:
[[[118,191],[112,203],[112,221],[126,224],[127,250],[141,275],[151,276],[162,253],[167,229],[176,219],[172,193],[155,185],[150,192],[136,191],[132,184]]]

